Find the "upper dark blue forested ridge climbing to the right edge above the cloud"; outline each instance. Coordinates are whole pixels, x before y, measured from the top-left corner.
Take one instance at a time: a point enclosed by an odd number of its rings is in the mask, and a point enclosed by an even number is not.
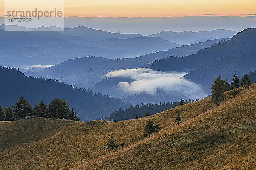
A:
[[[152,63],[149,68],[160,71],[183,71],[224,57],[243,57],[256,48],[256,28],[248,28],[234,35],[230,40],[215,43],[209,48],[187,57],[169,57]]]

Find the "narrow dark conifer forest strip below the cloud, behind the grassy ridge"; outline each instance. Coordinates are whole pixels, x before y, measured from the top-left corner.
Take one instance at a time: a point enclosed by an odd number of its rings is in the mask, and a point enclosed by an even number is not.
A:
[[[184,103],[189,103],[191,100],[184,101]],[[144,115],[148,112],[150,115],[160,113],[162,111],[166,111],[170,108],[174,108],[178,106],[179,102],[172,102],[172,103],[160,103],[160,104],[142,104],[139,105],[132,105],[127,109],[119,109],[115,110],[110,114],[108,120],[128,120],[128,119],[135,119],[139,117],[145,117]]]

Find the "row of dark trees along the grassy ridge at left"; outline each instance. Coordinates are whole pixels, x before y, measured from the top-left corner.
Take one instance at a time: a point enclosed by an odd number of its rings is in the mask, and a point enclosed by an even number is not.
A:
[[[28,117],[79,120],[79,116],[73,111],[73,108],[70,111],[67,102],[61,99],[52,100],[49,106],[41,101],[32,107],[26,99],[21,97],[12,108],[0,107],[0,120],[19,120]]]

